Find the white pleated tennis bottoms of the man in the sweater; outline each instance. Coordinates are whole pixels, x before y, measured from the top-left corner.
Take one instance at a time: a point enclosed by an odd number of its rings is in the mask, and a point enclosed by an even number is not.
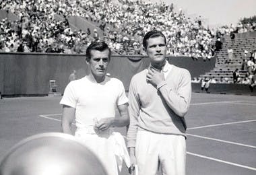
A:
[[[135,156],[139,175],[185,175],[186,142],[183,135],[138,131]]]

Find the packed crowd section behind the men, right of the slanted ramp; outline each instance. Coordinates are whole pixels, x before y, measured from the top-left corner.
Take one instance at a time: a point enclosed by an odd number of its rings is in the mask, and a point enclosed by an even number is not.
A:
[[[103,28],[104,40],[121,54],[145,54],[141,38],[149,30],[157,29],[166,35],[168,55],[205,59],[213,55],[214,41],[210,31],[203,28],[201,20],[185,17],[182,9],[174,12],[173,4],[130,0],[120,0],[119,5],[104,0],[82,0],[80,3],[89,11],[87,18],[110,26]]]

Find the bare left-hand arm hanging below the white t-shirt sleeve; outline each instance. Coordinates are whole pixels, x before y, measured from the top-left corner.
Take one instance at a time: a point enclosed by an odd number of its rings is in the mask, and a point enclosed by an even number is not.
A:
[[[71,125],[73,120],[75,119],[75,108],[72,108],[67,105],[63,105],[63,114],[61,118],[61,128],[63,133],[72,134],[71,133]]]

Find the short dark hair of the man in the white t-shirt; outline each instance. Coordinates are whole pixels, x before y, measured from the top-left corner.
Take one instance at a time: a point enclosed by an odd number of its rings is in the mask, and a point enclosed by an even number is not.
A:
[[[108,53],[108,58],[110,58],[111,56],[111,50],[108,47],[108,44],[106,44],[106,42],[104,41],[94,41],[92,42],[88,48],[86,48],[86,59],[90,60],[91,59],[91,50],[98,50],[98,51],[103,51],[108,49],[109,53]]]

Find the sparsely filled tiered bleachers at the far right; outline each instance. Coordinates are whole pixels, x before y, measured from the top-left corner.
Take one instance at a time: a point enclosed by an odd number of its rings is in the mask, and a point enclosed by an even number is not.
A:
[[[256,32],[255,32],[256,34]],[[228,49],[232,48],[232,58],[229,58]],[[210,77],[217,83],[233,83],[233,72],[238,69],[241,81],[238,83],[245,83],[242,81],[245,77],[250,79],[250,74],[247,71],[247,61],[251,57],[253,50],[256,48],[256,37],[241,37],[236,38],[234,42],[226,38],[226,42],[223,43],[222,49],[216,52],[216,67],[210,72],[201,75],[201,79],[204,77]],[[245,62],[245,63],[244,63]],[[250,81],[252,81],[250,79]]]

